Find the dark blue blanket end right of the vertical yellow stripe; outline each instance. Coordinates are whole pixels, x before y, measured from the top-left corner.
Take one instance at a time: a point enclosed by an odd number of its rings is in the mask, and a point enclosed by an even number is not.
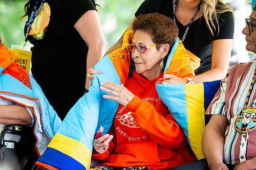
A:
[[[220,88],[220,80],[216,80],[213,82],[204,82],[204,110],[206,111],[212,98],[214,98],[215,93]],[[204,116],[205,125],[207,125],[210,121],[210,116]]]

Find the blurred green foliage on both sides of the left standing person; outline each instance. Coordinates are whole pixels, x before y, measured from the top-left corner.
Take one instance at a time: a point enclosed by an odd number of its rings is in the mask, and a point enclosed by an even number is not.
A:
[[[24,44],[24,25],[27,18],[21,21],[19,18],[24,15],[24,5],[27,2],[27,0],[0,0],[0,30],[3,42],[8,47],[11,47],[11,44]],[[100,6],[98,14],[106,39],[105,50],[120,38],[142,2],[143,0],[96,0]]]

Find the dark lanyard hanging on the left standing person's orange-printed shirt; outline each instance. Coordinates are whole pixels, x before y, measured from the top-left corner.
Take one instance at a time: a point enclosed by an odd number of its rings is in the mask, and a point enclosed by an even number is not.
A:
[[[29,35],[29,31],[30,31],[30,29],[32,27],[32,23],[34,22],[36,16],[38,15],[40,9],[42,8],[42,5],[44,5],[46,0],[42,0],[40,6],[38,7],[38,2],[39,1],[40,0],[36,1],[35,5],[33,6],[31,15],[28,17],[28,21],[27,21],[28,26],[27,26],[26,36],[25,36],[25,44],[28,41],[28,35]],[[24,46],[25,46],[25,44],[24,44]]]

